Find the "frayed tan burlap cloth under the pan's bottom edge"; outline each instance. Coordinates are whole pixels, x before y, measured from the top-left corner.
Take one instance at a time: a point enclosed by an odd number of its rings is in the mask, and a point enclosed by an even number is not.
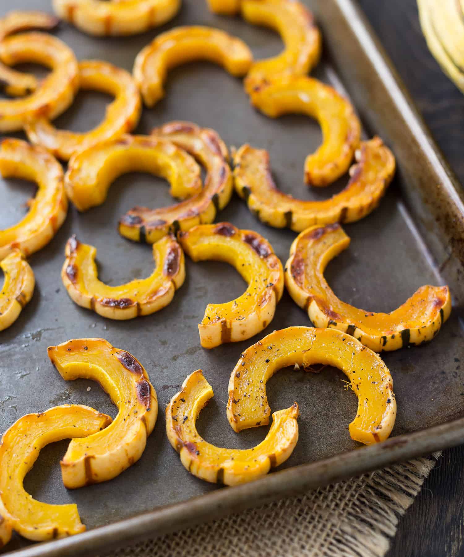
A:
[[[381,557],[436,458],[417,458],[105,557]]]

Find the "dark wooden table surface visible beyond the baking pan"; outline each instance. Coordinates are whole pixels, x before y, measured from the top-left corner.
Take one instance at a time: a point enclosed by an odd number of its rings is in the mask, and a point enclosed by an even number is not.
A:
[[[441,72],[419,26],[416,0],[358,0],[464,184],[464,95]],[[443,452],[399,521],[388,557],[464,555],[464,447]]]

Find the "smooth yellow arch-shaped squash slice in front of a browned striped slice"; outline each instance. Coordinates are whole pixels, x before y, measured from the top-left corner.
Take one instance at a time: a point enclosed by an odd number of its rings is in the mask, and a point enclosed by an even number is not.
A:
[[[126,134],[71,157],[65,175],[66,193],[79,211],[87,211],[105,202],[111,184],[127,172],[149,172],[165,178],[171,185],[171,196],[180,199],[201,190],[200,167],[183,149],[169,141]],[[167,232],[169,227],[164,234]]]

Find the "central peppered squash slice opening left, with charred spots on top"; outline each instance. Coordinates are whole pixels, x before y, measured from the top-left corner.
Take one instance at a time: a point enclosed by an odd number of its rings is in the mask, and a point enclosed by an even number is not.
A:
[[[225,261],[248,282],[248,288],[236,300],[206,306],[198,325],[203,348],[249,339],[269,325],[284,282],[282,263],[265,238],[221,222],[180,232],[179,242],[192,260]]]

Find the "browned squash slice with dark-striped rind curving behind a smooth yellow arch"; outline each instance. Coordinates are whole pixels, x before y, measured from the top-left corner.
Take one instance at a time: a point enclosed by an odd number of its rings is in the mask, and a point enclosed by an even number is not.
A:
[[[162,209],[135,207],[119,221],[119,233],[137,242],[156,242],[167,232],[186,231],[197,224],[214,222],[216,213],[229,203],[233,180],[224,141],[211,129],[190,122],[170,122],[152,135],[185,149],[206,169],[203,190],[186,201]]]

